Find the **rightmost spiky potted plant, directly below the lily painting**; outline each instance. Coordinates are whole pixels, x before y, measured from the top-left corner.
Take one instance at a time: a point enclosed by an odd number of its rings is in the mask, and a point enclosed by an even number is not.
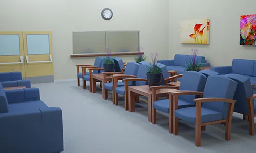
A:
[[[198,49],[192,49],[192,57],[186,65],[187,71],[201,71],[201,64],[197,60]]]

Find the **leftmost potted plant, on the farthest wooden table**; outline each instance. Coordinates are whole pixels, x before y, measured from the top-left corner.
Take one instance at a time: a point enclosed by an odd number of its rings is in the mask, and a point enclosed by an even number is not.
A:
[[[103,60],[103,66],[105,72],[114,72],[115,63],[114,59],[111,57],[111,49],[106,48],[106,57]]]

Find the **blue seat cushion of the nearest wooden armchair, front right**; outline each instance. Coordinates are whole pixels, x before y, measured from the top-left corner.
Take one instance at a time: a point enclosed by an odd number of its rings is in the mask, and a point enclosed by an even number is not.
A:
[[[196,107],[187,107],[174,111],[176,117],[181,120],[196,123]],[[222,120],[223,113],[211,110],[208,108],[201,108],[201,123]]]

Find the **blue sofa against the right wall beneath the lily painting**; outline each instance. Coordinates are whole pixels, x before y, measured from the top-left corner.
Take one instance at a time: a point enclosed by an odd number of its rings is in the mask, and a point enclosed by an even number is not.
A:
[[[157,62],[166,65],[167,70],[176,70],[178,71],[177,74],[183,74],[187,70],[186,65],[190,62],[191,58],[191,55],[175,54],[173,60],[159,60]],[[202,67],[210,66],[210,63],[207,63],[204,56],[197,56],[197,61]]]

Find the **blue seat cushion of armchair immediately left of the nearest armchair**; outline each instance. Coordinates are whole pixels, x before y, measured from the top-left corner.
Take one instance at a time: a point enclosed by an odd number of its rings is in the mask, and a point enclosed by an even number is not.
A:
[[[191,104],[189,102],[186,102],[184,100],[178,100],[178,108],[185,108],[185,107],[192,107],[195,106],[194,104]],[[154,101],[153,107],[161,112],[169,113],[169,99],[163,99]]]

